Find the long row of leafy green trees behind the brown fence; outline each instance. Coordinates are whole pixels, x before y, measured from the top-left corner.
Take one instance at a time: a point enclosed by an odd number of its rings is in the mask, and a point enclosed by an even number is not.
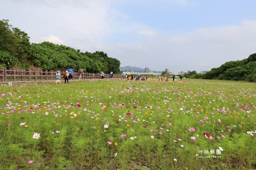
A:
[[[0,20],[0,67],[42,70],[85,69],[89,73],[121,73],[120,61],[103,51],[81,52],[65,45],[50,42],[30,43],[29,36],[18,28]]]

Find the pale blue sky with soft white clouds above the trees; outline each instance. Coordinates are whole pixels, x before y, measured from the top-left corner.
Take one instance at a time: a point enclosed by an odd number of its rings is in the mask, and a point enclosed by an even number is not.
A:
[[[256,0],[0,0],[30,43],[103,51],[121,67],[209,71],[256,53]]]

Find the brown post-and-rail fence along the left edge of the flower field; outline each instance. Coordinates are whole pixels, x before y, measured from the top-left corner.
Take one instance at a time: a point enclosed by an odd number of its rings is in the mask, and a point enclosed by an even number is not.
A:
[[[56,79],[57,71],[26,71],[25,69],[0,69],[0,81],[48,81]],[[60,72],[60,78],[63,79],[65,71]],[[123,75],[113,75],[113,78],[122,78]],[[72,79],[79,79],[80,74],[75,72]],[[101,79],[101,73],[82,73],[81,79]],[[109,74],[105,74],[104,79],[110,79]]]

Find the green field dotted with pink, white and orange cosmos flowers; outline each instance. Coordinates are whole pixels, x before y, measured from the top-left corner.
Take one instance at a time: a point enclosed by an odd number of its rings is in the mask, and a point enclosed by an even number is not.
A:
[[[0,87],[0,169],[256,169],[256,84]]]

